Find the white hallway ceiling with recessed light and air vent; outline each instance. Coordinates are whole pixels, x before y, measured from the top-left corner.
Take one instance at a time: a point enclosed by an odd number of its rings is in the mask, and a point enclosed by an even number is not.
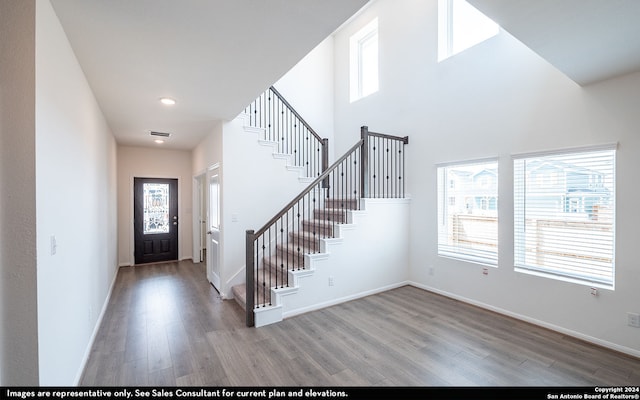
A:
[[[368,0],[51,0],[118,143],[192,149]],[[172,97],[171,107],[159,102]]]

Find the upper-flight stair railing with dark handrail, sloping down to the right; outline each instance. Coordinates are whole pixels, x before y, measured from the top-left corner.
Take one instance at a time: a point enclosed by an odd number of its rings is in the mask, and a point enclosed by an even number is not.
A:
[[[278,152],[289,154],[306,176],[319,176],[328,165],[329,145],[271,86],[245,108],[251,126],[265,130],[264,140],[276,142]]]

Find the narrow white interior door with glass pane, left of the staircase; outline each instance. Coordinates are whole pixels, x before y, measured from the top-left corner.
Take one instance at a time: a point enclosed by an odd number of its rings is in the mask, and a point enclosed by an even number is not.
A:
[[[217,169],[209,176],[207,225],[207,279],[220,292],[220,179]]]

